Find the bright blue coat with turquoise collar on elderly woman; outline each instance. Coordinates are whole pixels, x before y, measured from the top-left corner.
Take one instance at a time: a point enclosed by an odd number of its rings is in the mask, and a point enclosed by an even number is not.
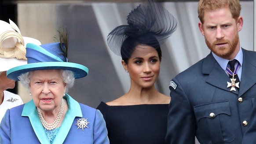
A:
[[[53,144],[109,144],[106,123],[99,110],[80,104],[66,94],[69,109]],[[88,128],[77,120],[88,119]],[[50,144],[33,100],[7,110],[0,124],[0,144]]]

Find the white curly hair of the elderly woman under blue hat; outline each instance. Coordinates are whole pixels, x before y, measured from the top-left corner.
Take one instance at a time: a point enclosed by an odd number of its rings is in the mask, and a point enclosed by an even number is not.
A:
[[[23,86],[26,88],[30,88],[29,83],[30,83],[30,76],[34,71],[26,72],[18,76],[18,79],[22,83]],[[64,83],[66,83],[66,93],[68,92],[69,88],[71,88],[74,85],[75,81],[75,76],[72,71],[69,70],[62,70],[61,69],[61,75],[62,75],[62,80]]]

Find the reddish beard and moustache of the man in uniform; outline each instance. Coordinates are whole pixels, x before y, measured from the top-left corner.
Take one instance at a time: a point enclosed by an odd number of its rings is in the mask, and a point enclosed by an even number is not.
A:
[[[216,40],[213,43],[210,43],[206,38],[205,38],[205,43],[208,46],[208,48],[217,56],[221,58],[228,58],[231,54],[234,53],[236,46],[238,45],[238,32],[236,33],[235,37],[233,40]],[[226,47],[216,47],[217,43],[227,43],[228,46]]]

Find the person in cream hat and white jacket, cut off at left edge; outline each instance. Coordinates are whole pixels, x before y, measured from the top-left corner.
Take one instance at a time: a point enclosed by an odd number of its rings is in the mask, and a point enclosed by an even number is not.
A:
[[[9,21],[10,24],[0,20],[0,122],[7,109],[23,104],[20,96],[7,91],[15,87],[15,80],[8,79],[6,71],[27,63],[26,43],[41,44],[36,39],[21,36],[18,26]]]

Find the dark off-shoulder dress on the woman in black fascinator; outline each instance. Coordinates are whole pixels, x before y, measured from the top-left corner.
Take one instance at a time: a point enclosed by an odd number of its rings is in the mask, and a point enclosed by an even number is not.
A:
[[[168,104],[109,106],[98,108],[106,121],[110,144],[165,144]]]

